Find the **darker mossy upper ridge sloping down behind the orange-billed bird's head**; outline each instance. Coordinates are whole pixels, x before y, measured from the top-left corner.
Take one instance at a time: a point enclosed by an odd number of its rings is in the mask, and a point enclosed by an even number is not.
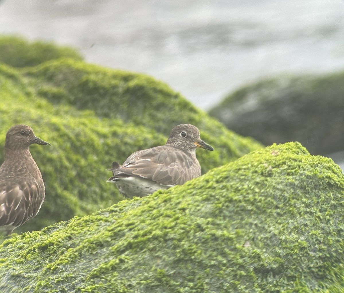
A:
[[[67,59],[25,69],[23,74],[32,79],[37,94],[52,103],[92,109],[98,117],[120,118],[165,136],[175,125],[194,124],[204,140],[219,146],[215,148],[218,153],[210,154],[215,166],[227,163],[226,158],[237,158],[261,147],[253,139],[238,137],[166,84],[147,75]],[[204,154],[200,152],[199,156],[205,166]],[[207,170],[203,167],[203,172]]]

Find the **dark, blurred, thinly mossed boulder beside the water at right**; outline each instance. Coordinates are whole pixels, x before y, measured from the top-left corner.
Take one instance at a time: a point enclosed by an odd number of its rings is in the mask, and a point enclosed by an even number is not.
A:
[[[240,88],[209,114],[265,145],[298,141],[311,154],[343,150],[344,72],[278,76]]]

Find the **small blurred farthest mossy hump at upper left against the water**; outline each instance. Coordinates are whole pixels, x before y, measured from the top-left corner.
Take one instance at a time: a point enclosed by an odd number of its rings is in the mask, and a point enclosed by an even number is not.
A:
[[[0,36],[0,62],[13,67],[35,66],[45,61],[69,57],[82,60],[76,50],[41,41],[28,42],[15,36]]]

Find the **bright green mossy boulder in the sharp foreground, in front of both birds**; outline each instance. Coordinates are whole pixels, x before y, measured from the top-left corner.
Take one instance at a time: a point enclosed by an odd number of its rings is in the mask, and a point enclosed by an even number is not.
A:
[[[6,240],[0,292],[343,292],[344,176],[298,143]]]

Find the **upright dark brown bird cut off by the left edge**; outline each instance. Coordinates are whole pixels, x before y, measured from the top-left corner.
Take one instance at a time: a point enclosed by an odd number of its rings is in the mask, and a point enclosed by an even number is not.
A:
[[[44,201],[45,187],[29,151],[31,144],[50,145],[27,125],[8,130],[0,167],[0,231],[7,235],[36,216]]]

